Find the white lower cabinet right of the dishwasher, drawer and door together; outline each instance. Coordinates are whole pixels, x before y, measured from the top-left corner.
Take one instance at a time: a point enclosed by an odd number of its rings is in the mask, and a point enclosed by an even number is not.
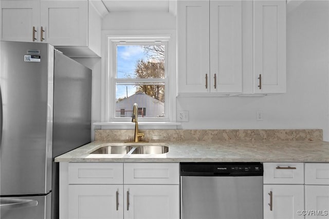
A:
[[[264,219],[304,218],[304,163],[263,163]]]

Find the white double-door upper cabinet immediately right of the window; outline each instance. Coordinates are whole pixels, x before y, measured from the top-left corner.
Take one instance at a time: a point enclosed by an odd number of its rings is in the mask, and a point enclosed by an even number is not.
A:
[[[241,93],[241,1],[178,1],[177,19],[178,93]]]

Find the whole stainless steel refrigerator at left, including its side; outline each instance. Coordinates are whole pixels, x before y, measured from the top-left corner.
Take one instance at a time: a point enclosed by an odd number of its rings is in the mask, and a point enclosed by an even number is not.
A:
[[[53,158],[90,142],[92,72],[47,43],[0,49],[0,218],[58,218]]]

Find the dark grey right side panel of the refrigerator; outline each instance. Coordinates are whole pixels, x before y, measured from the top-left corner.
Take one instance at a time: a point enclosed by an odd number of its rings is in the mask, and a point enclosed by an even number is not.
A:
[[[90,142],[92,70],[54,52],[52,155]],[[52,169],[52,218],[59,218],[59,163]]]

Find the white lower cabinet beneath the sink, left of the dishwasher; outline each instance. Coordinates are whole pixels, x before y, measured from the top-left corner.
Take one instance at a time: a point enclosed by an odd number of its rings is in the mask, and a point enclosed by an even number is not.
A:
[[[60,218],[179,219],[179,163],[61,162]]]

